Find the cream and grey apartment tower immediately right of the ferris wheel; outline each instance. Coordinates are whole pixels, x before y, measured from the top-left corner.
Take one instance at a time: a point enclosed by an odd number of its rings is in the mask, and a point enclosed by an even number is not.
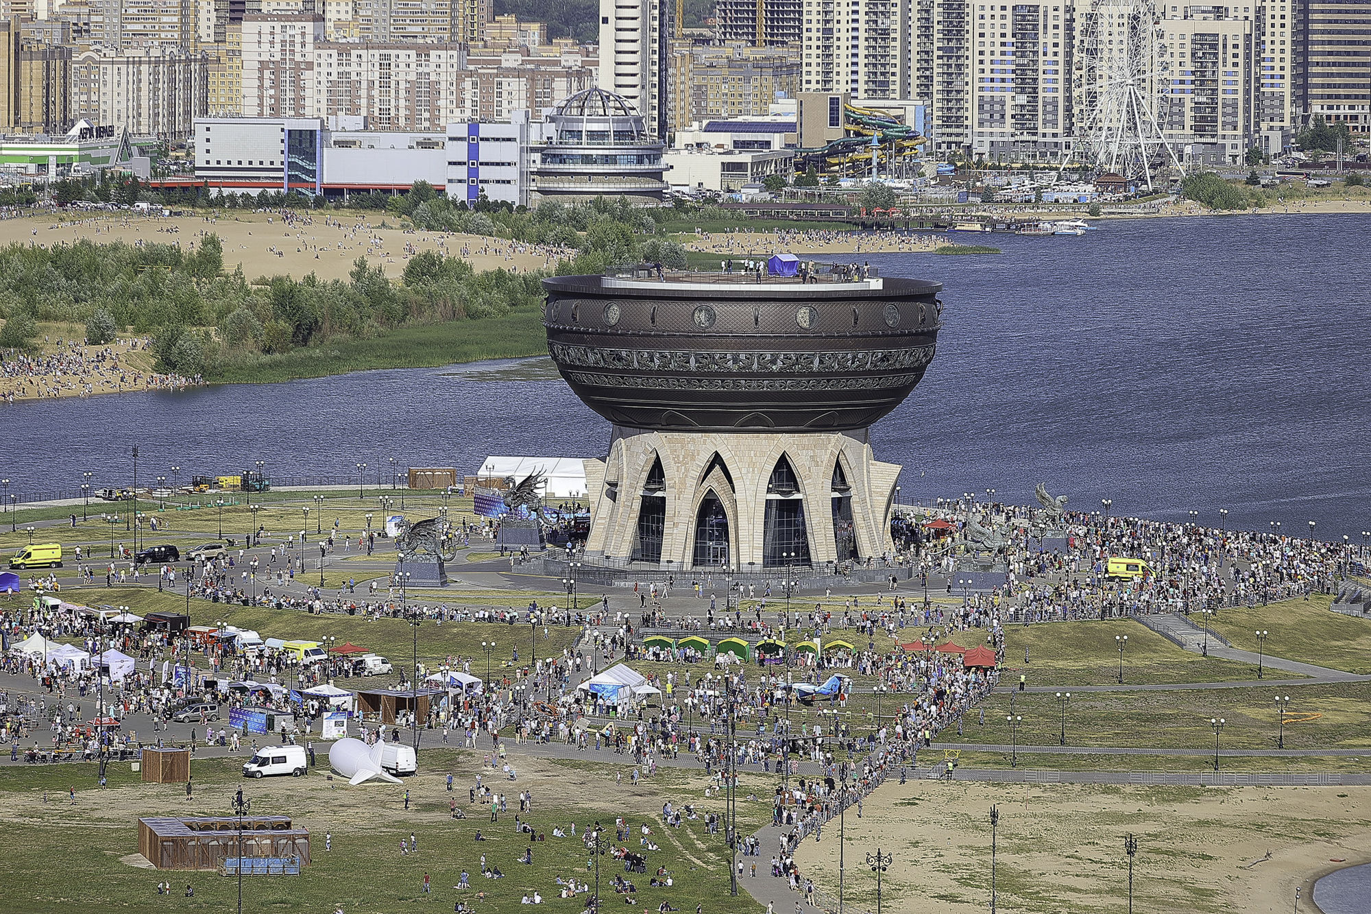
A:
[[[1157,121],[1178,154],[1200,165],[1242,162],[1257,122],[1253,7],[1190,5],[1161,19]]]

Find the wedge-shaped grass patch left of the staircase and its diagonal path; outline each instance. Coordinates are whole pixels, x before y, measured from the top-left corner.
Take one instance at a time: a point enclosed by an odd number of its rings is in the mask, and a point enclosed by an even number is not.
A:
[[[1330,613],[1331,615],[1331,613]],[[967,633],[968,635],[975,633]],[[1256,666],[1182,651],[1137,622],[1093,620],[1005,626],[1005,683],[1027,675],[1031,686],[1111,685],[1119,679],[1115,638],[1128,635],[1124,685],[1163,682],[1239,682],[1256,679]],[[982,635],[984,638],[984,635]],[[953,638],[956,641],[956,637]],[[972,646],[971,641],[958,641]],[[1023,661],[1024,648],[1028,663]],[[1281,674],[1290,678],[1290,674]]]

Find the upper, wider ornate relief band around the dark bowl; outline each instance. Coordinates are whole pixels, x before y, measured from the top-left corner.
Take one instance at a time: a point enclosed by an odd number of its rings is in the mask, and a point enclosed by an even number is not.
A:
[[[698,353],[657,349],[598,349],[550,343],[553,358],[574,368],[620,368],[666,372],[842,372],[923,368],[935,346],[849,353]]]

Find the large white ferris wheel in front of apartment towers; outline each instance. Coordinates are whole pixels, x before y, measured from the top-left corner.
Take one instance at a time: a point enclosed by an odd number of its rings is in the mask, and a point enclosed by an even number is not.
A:
[[[1167,119],[1169,70],[1157,8],[1150,0],[1093,0],[1080,58],[1078,136],[1093,165],[1154,189],[1169,166],[1183,174],[1160,124]]]

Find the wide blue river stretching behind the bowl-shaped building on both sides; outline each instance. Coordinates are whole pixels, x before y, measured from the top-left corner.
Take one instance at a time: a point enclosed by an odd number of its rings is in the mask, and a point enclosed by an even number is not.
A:
[[[1360,542],[1371,530],[1368,215],[1106,222],[995,235],[1001,255],[871,255],[945,283],[938,357],[872,431],[905,501],[1035,483],[1071,505]],[[968,240],[961,236],[956,240]],[[975,239],[979,240],[979,239]],[[862,259],[866,259],[865,257]],[[609,425],[547,360],[378,371],[0,410],[16,491],[191,472],[476,472],[487,454],[599,456]]]

